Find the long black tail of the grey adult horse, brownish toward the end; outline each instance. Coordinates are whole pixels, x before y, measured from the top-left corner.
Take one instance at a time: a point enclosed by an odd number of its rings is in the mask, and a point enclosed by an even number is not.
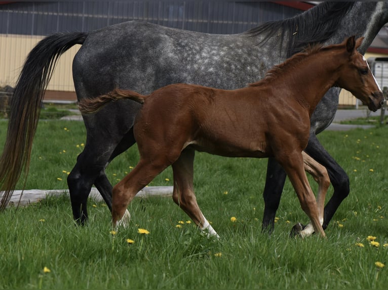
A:
[[[87,35],[52,34],[38,42],[27,56],[11,98],[7,139],[0,157],[0,210],[6,208],[23,169],[28,174],[32,139],[55,65],[71,46],[83,44]]]

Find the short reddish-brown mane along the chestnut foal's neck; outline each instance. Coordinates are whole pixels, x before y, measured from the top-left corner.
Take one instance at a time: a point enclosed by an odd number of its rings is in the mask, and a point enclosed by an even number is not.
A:
[[[336,45],[338,46],[338,45]],[[293,55],[291,58],[287,59],[284,63],[280,65],[276,65],[273,68],[269,69],[264,78],[254,82],[250,83],[248,86],[261,86],[265,85],[268,82],[276,79],[280,74],[284,73],[287,69],[292,69],[295,67],[296,64],[298,64],[301,60],[305,59],[307,56],[315,55],[319,52],[326,51],[328,49],[332,49],[333,45],[329,46],[323,46],[323,44],[318,43],[315,45],[307,45],[304,50],[300,53],[297,53]]]

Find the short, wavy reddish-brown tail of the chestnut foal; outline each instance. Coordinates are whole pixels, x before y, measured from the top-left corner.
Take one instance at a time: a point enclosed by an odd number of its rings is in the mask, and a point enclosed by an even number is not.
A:
[[[82,99],[78,103],[78,108],[82,114],[90,114],[97,112],[101,109],[102,106],[109,102],[118,101],[121,99],[130,99],[143,104],[145,98],[145,95],[137,93],[136,91],[117,88],[93,99]]]

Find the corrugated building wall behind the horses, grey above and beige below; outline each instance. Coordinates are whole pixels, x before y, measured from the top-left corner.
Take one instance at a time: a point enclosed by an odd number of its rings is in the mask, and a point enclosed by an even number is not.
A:
[[[0,5],[0,86],[14,86],[32,47],[53,32],[90,31],[143,20],[206,33],[239,33],[301,11],[256,1],[74,1]],[[59,60],[49,90],[73,91],[76,45]]]

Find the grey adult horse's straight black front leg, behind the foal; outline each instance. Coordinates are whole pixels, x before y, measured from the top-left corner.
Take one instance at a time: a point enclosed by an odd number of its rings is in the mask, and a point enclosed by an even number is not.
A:
[[[274,158],[268,158],[267,174],[263,191],[264,214],[261,226],[262,231],[271,233],[274,230],[275,215],[279,208],[286,176],[283,167]]]

